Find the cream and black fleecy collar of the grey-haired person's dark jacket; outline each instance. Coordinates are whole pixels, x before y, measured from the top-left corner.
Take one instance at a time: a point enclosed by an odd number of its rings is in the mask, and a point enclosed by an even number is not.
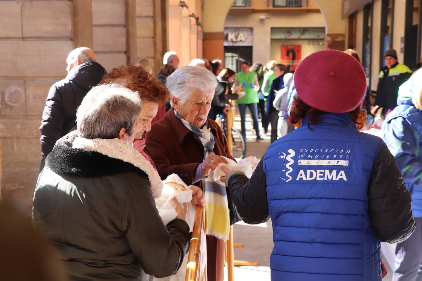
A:
[[[158,172],[129,142],[120,139],[76,138],[62,142],[46,158],[54,173],[73,177],[98,177],[134,172],[149,180],[154,198],[162,192]]]

